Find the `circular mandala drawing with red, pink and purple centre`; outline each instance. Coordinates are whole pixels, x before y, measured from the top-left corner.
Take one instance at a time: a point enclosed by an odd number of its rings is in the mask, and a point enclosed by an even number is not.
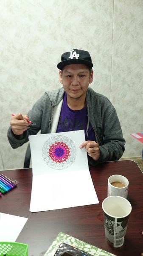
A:
[[[44,143],[42,157],[50,168],[65,169],[76,159],[76,146],[68,137],[53,136]]]

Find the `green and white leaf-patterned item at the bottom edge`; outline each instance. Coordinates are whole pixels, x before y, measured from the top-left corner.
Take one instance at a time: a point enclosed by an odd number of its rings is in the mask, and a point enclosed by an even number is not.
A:
[[[59,245],[62,243],[70,244],[71,246],[76,247],[79,250],[83,250],[86,253],[90,253],[93,256],[115,256],[115,254],[108,253],[105,250],[102,250],[91,244],[87,244],[79,239],[74,238],[73,236],[69,236],[62,232],[58,234],[44,256],[54,256]]]

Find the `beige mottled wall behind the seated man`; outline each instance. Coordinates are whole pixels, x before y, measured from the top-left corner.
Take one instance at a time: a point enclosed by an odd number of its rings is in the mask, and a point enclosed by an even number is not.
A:
[[[45,90],[60,87],[56,64],[73,48],[90,52],[91,87],[118,112],[123,157],[141,156],[143,144],[129,133],[143,131],[143,0],[1,0],[1,169],[22,168],[27,146],[8,143],[11,113],[27,113]]]

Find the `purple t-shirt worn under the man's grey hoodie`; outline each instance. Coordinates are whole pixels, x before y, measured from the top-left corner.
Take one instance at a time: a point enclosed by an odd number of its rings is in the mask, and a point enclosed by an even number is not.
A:
[[[64,99],[56,132],[78,130],[84,130],[85,132],[87,129],[87,120],[87,107],[84,107],[81,110],[70,109],[67,106],[67,94],[64,93]],[[95,134],[91,125],[89,125],[88,128],[88,137],[85,132],[85,139],[95,140]]]

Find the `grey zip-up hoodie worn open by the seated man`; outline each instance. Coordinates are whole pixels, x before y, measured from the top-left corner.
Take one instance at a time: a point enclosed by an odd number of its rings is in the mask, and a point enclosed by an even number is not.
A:
[[[36,125],[29,125],[27,131],[20,136],[15,136],[8,129],[8,140],[12,148],[17,148],[28,141],[29,135],[56,132],[59,115],[62,107],[64,88],[45,92],[45,94],[35,103],[29,111],[29,119]],[[98,162],[119,160],[125,150],[125,140],[121,130],[121,125],[112,103],[107,97],[96,93],[93,89],[87,89],[86,105],[88,113],[88,124],[93,127],[95,140],[99,144],[100,159],[93,160],[88,156],[90,165],[95,166]]]

